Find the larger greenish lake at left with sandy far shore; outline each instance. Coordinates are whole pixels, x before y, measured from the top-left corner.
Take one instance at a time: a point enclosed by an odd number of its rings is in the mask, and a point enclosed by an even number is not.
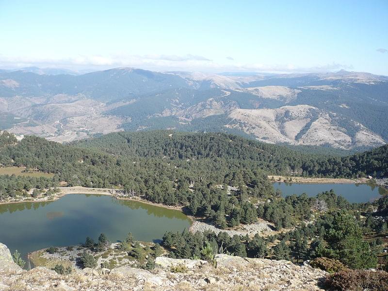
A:
[[[13,253],[27,253],[49,246],[97,241],[101,232],[111,242],[128,232],[139,241],[162,239],[166,231],[182,231],[191,224],[178,210],[108,195],[68,194],[56,201],[0,205],[0,242]]]

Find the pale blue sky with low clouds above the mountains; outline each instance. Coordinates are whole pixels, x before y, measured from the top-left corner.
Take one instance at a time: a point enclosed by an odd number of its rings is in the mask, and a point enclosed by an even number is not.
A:
[[[0,68],[388,75],[388,0],[0,0]]]

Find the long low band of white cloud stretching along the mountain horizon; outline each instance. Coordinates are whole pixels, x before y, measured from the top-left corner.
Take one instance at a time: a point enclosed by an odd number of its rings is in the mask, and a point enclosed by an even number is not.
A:
[[[102,70],[113,67],[137,67],[156,71],[204,71],[204,72],[223,72],[223,71],[257,71],[257,72],[327,72],[339,69],[351,69],[352,65],[338,63],[314,65],[303,67],[293,64],[261,64],[261,63],[219,63],[199,55],[187,54],[178,55],[128,55],[117,54],[110,56],[101,55],[79,55],[67,58],[27,58],[27,57],[8,57],[0,55],[0,67],[15,68],[26,66],[38,67],[61,67],[71,70]]]

